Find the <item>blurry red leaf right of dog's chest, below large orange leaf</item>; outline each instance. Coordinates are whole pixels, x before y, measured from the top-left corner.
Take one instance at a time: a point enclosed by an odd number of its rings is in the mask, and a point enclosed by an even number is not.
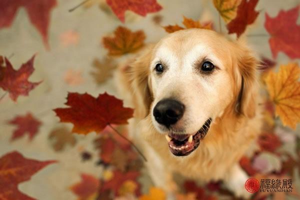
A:
[[[270,152],[274,152],[279,146],[281,146],[279,137],[273,133],[263,133],[259,135],[257,143],[261,150]]]

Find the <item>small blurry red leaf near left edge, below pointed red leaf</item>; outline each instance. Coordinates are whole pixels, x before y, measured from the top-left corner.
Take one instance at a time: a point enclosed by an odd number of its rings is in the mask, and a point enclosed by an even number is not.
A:
[[[11,140],[15,140],[16,138],[23,136],[25,133],[28,133],[29,140],[32,140],[41,125],[41,122],[34,118],[29,112],[27,112],[26,115],[18,115],[14,117],[8,121],[8,123],[17,125],[17,129],[13,131]]]

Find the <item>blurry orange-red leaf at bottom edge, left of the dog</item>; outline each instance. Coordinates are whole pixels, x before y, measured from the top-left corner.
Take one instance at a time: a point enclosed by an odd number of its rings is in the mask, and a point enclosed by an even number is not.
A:
[[[80,200],[96,199],[98,189],[99,179],[86,173],[81,174],[80,182],[70,186],[70,190],[76,194]]]

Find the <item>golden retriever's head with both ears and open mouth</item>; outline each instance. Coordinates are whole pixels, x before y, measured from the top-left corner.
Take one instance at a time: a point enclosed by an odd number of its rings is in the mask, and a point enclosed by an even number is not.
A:
[[[257,60],[244,44],[214,31],[176,31],[131,66],[136,114],[151,117],[174,155],[197,148],[228,109],[236,116],[255,115]]]

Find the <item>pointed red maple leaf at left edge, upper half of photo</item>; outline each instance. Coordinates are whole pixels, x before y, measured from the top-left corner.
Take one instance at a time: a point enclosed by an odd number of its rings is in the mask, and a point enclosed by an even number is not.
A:
[[[28,92],[41,82],[28,81],[29,75],[34,71],[34,55],[26,63],[23,63],[18,70],[12,68],[6,57],[4,60],[6,67],[1,67],[0,87],[9,92],[9,96],[13,101],[16,101],[19,95],[27,96]]]

